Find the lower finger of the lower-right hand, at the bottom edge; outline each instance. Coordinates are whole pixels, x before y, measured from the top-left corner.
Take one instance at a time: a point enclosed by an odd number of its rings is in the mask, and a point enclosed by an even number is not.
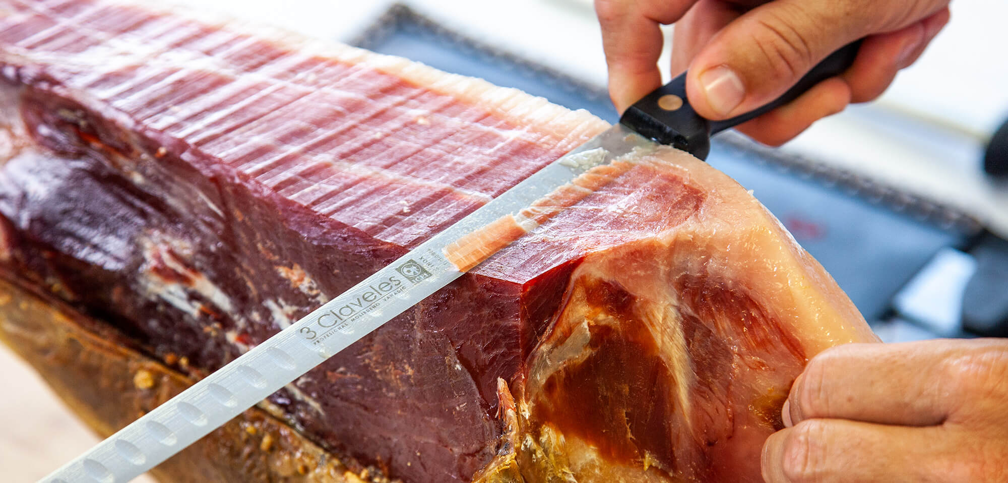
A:
[[[967,481],[949,469],[963,458],[957,439],[940,427],[808,419],[771,435],[760,466],[767,483]]]

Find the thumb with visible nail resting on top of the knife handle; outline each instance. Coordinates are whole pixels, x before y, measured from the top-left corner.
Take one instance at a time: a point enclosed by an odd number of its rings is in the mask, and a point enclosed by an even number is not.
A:
[[[906,3],[765,3],[728,24],[694,58],[686,94],[709,119],[752,111],[782,95],[838,48],[869,33],[902,27],[899,23],[913,15],[907,15]]]

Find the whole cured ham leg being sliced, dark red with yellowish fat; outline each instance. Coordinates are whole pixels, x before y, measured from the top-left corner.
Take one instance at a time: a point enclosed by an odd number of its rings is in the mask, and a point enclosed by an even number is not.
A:
[[[606,127],[225,20],[0,9],[0,273],[196,378]],[[459,262],[482,263],[262,408],[407,482],[759,481],[807,358],[875,340],[758,202],[679,151],[520,217],[491,227],[512,244],[467,238]]]

